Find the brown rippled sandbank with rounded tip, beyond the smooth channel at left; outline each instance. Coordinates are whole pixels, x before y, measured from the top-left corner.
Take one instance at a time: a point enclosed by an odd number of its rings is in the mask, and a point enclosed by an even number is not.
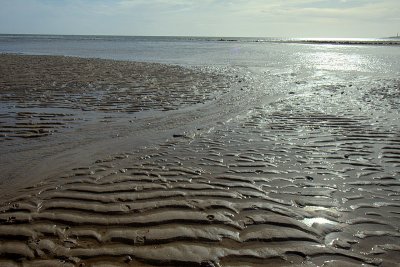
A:
[[[0,77],[0,141],[72,127],[69,122],[82,120],[76,110],[177,110],[215,99],[229,84],[205,68],[6,54],[0,55]]]

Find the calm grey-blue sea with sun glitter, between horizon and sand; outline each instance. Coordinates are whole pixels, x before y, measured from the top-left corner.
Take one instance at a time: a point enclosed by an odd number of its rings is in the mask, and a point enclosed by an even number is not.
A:
[[[0,53],[231,66],[300,75],[400,72],[399,39],[0,35]]]

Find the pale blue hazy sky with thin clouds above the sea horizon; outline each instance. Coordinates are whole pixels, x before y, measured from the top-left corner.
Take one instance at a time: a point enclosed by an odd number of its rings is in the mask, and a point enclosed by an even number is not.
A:
[[[0,33],[384,37],[400,0],[0,0]]]

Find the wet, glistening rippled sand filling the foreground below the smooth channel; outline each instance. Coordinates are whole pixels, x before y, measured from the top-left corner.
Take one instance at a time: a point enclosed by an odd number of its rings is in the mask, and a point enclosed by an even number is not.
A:
[[[398,84],[306,88],[26,188],[0,265],[396,266]]]

